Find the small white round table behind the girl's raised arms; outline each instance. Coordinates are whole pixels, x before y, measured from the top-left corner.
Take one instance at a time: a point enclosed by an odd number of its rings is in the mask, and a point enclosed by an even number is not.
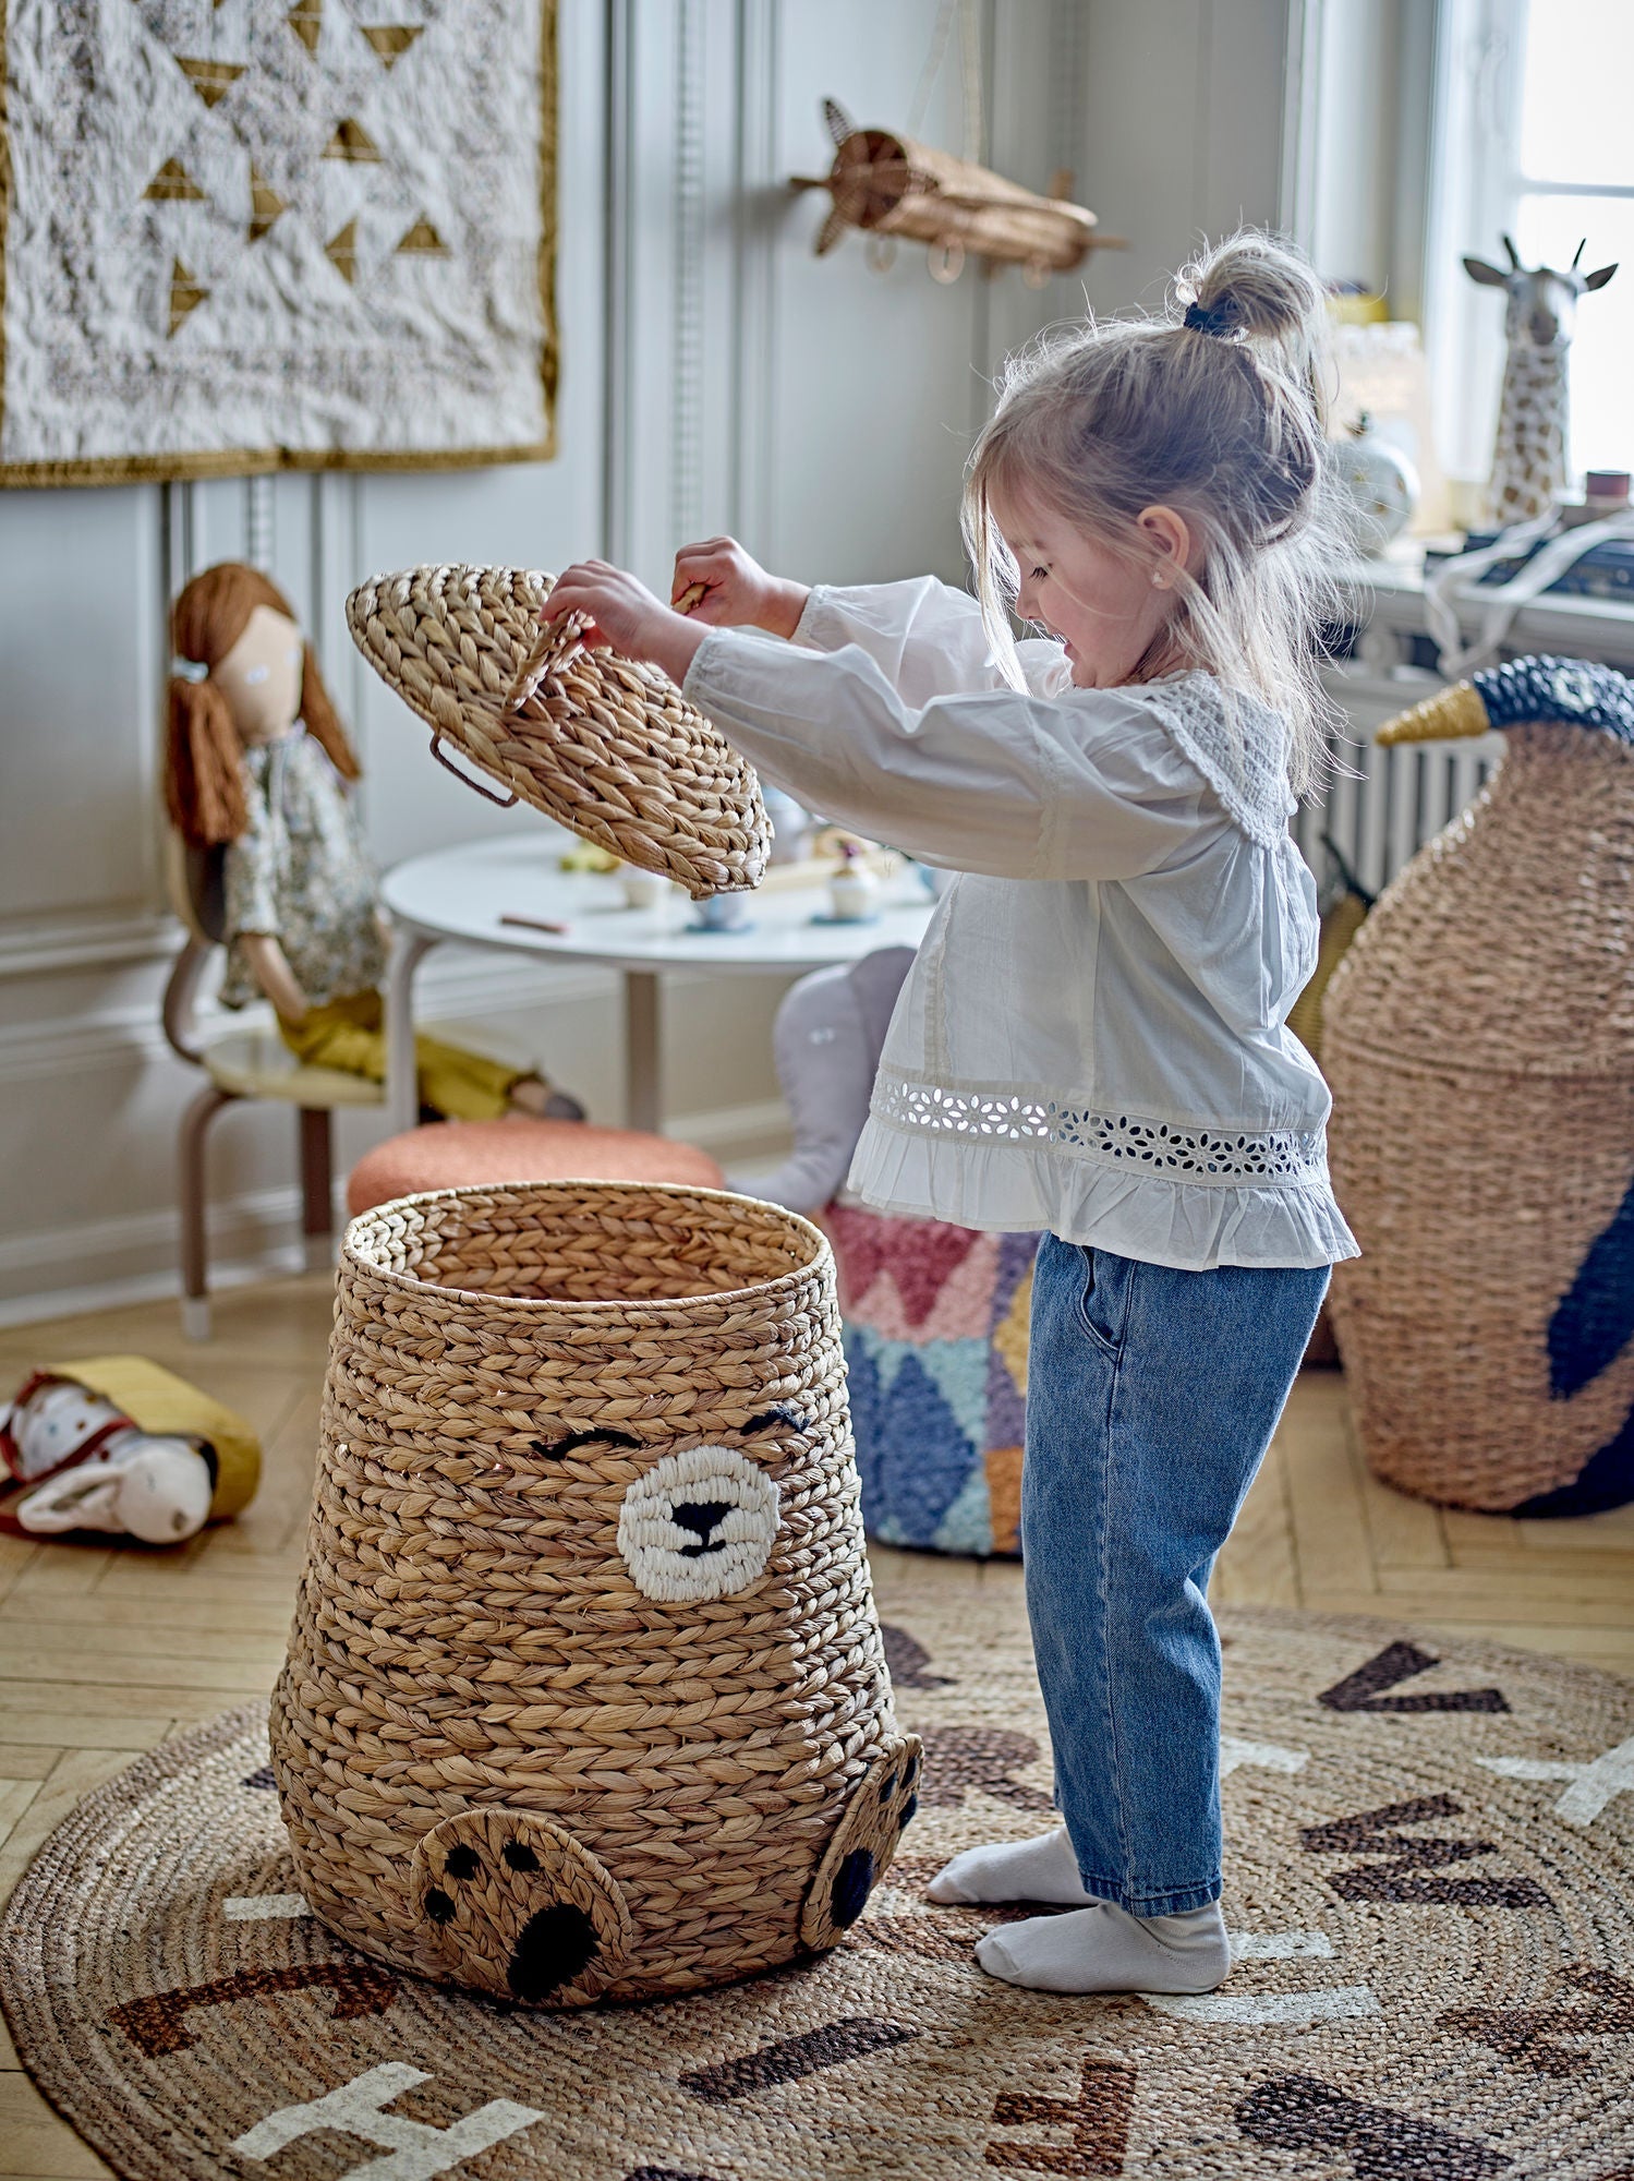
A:
[[[560,962],[599,962],[623,973],[625,1119],[656,1130],[662,1121],[658,1077],[658,979],[667,968],[782,971],[856,962],[876,947],[917,947],[932,903],[913,870],[880,885],[880,912],[867,923],[826,923],[826,885],[789,885],[741,894],[745,925],[736,931],[693,931],[697,903],[680,888],[656,909],[625,907],[617,875],[558,870],[573,844],[560,827],[529,827],[510,840],[475,840],[397,864],[383,896],[397,938],[386,981],[386,1108],[392,1128],[414,1128],[414,971],[438,940],[508,947]],[[536,931],[503,916],[566,925]]]

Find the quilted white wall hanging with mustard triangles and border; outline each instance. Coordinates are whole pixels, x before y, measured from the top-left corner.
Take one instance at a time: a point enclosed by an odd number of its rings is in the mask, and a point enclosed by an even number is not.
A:
[[[556,0],[0,24],[0,484],[556,451]]]

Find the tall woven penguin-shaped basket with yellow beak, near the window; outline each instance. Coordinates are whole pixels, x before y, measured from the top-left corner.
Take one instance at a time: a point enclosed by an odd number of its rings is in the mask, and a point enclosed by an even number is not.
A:
[[[1381,735],[1508,728],[1325,999],[1357,1429],[1379,1477],[1458,1507],[1634,1498],[1632,696],[1516,661]]]

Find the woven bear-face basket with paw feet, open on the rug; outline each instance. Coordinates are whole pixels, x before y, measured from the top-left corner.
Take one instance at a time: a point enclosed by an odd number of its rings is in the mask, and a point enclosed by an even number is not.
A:
[[[580,2007],[832,1945],[919,1745],[817,1228],[599,1182],[355,1219],[272,1767],[314,1913],[420,1976]]]

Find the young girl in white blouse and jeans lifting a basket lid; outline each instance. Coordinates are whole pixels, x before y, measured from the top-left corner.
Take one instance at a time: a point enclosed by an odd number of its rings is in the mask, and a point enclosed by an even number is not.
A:
[[[1357,1254],[1327,1086],[1283,1027],[1316,962],[1288,816],[1325,724],[1322,294],[1261,236],[1179,294],[1011,364],[967,471],[980,602],[932,578],[804,591],[712,539],[675,563],[675,595],[708,585],[691,617],[595,561],[549,604],[654,659],[810,809],[961,872],[850,1184],[1048,1230],[1022,1551],[1063,1825],[930,1884],[1072,1908],[976,1950],[1048,1991],[1231,1967],[1205,1594]],[[1004,595],[1044,639],[1013,643]]]

